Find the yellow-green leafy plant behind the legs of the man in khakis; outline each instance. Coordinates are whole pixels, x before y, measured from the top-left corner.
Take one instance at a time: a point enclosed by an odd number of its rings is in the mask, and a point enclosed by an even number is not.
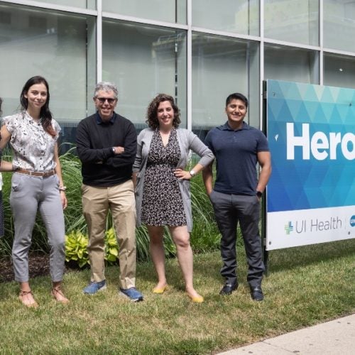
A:
[[[119,258],[119,245],[117,244],[114,228],[111,227],[105,233],[105,260],[109,264],[116,263]],[[87,244],[89,238],[81,231],[72,231],[65,236],[65,261],[74,261],[82,268],[89,265]]]

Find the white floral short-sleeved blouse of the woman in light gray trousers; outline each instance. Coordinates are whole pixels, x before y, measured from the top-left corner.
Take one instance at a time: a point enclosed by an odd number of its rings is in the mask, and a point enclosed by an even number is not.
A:
[[[54,138],[44,131],[40,121],[33,120],[26,111],[4,117],[3,124],[11,133],[14,169],[45,172],[55,168],[54,148],[60,132],[57,121],[52,119],[53,129],[57,132]]]

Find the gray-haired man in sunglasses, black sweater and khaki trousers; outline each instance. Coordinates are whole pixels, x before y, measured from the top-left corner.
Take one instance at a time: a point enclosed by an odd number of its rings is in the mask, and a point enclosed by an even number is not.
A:
[[[96,113],[77,126],[77,153],[82,160],[82,209],[89,231],[91,279],[84,293],[107,287],[104,275],[104,234],[111,210],[119,243],[119,291],[133,302],[143,300],[136,289],[136,202],[132,165],[136,129],[114,111],[116,85],[99,82],[94,91]]]

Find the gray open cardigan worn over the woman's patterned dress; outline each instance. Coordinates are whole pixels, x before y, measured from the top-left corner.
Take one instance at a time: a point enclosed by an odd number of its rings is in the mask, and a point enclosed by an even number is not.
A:
[[[200,155],[199,163],[207,166],[214,160],[212,151],[200,141],[195,133],[187,129],[177,129],[178,143],[180,146],[181,156],[176,168],[185,169],[187,160],[190,157],[190,149],[194,153]],[[146,174],[146,165],[148,160],[148,152],[151,147],[153,138],[153,129],[143,129],[137,138],[137,155],[133,164],[133,173],[137,173],[136,185],[136,210],[137,210],[137,226],[141,226],[141,209],[143,199],[144,177]],[[191,193],[190,180],[178,180],[182,202],[187,219],[187,230],[192,231],[192,210],[191,210]]]

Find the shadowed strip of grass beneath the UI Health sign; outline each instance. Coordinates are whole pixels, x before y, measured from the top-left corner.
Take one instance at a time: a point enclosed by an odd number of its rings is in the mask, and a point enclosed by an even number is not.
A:
[[[285,271],[355,253],[355,239],[269,251],[268,272]]]

